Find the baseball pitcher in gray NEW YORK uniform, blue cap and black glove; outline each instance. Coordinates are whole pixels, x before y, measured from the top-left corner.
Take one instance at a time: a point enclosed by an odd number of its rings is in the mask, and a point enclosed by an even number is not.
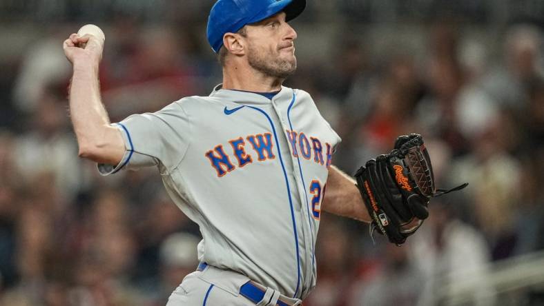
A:
[[[289,21],[305,6],[217,1],[207,38],[223,83],[119,123],[101,103],[101,41],[64,41],[79,156],[104,175],[157,167],[174,203],[200,225],[200,265],[168,306],[300,305],[315,286],[321,212],[371,223],[397,244],[427,218],[436,190],[419,135],[361,167],[356,184],[332,165],[340,137],[311,96],[282,86],[297,67]]]

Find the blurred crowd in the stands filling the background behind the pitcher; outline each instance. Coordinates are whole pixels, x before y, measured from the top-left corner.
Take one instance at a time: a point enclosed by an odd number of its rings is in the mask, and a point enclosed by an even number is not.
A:
[[[402,247],[324,214],[307,306],[544,305],[542,0],[309,0],[298,71],[353,174],[423,135],[439,187]],[[62,41],[106,33],[112,121],[221,82],[211,0],[0,1],[0,305],[164,305],[200,232],[157,170],[101,177],[77,156]],[[258,246],[255,246],[258,247]]]

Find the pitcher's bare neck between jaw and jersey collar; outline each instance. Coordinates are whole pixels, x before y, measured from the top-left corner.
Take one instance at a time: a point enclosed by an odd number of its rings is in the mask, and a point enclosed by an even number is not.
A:
[[[282,89],[283,81],[246,65],[225,65],[223,68],[223,89],[226,90],[277,92]]]

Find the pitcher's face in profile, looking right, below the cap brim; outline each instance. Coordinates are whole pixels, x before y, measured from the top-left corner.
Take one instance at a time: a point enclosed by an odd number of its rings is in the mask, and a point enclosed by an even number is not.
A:
[[[285,79],[295,72],[297,33],[280,12],[246,28],[249,65],[266,75]]]

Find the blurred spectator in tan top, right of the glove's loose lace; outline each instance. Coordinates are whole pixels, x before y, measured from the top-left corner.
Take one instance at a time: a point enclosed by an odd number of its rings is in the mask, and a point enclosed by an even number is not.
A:
[[[467,189],[474,201],[472,214],[492,247],[494,259],[512,255],[515,241],[514,215],[516,210],[520,166],[507,152],[505,123],[507,114],[497,117],[482,134],[472,141],[474,154],[459,159],[452,167],[452,177],[469,181]]]

